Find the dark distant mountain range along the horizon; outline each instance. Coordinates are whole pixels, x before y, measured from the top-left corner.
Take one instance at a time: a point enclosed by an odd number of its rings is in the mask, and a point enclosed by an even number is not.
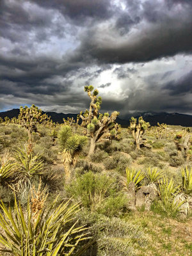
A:
[[[45,113],[45,112],[44,112]],[[77,114],[63,114],[63,113],[56,113],[56,112],[46,112],[48,116],[51,116],[53,122],[63,123],[63,118],[67,119],[67,117],[73,117],[75,120],[77,119]],[[9,118],[18,117],[19,109],[12,109],[4,112],[0,112],[0,116],[4,118],[8,116]],[[192,115],[184,115],[179,113],[166,113],[166,112],[134,112],[128,113],[124,115],[124,119],[116,118],[116,122],[121,124],[122,127],[127,127],[129,125],[129,120],[131,116],[135,118],[139,118],[139,116],[143,116],[143,119],[146,122],[149,122],[150,125],[157,125],[159,124],[169,124],[169,125],[181,125],[185,127],[192,127]]]

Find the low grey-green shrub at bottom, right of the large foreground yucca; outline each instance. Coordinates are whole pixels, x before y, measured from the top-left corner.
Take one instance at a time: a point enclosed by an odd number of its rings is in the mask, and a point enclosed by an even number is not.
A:
[[[94,250],[97,256],[136,255],[134,246],[144,248],[147,245],[147,237],[138,225],[88,211],[80,212],[78,217],[81,225],[91,226],[90,232],[97,241],[88,255],[93,255]]]

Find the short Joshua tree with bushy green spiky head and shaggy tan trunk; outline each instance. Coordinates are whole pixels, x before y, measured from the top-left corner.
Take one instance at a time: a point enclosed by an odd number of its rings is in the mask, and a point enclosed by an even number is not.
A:
[[[62,161],[65,169],[65,182],[70,182],[74,165],[84,146],[87,143],[86,136],[73,134],[69,125],[63,125],[58,132],[58,143],[62,150]]]

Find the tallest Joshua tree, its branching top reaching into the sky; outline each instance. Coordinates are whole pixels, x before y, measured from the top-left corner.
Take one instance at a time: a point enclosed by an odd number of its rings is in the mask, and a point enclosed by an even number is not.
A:
[[[99,109],[102,103],[102,98],[97,97],[99,91],[93,90],[93,86],[84,86],[84,91],[87,92],[91,99],[90,109],[80,113],[77,118],[81,118],[81,125],[86,128],[86,132],[90,134],[91,143],[88,156],[95,151],[96,143],[100,141],[112,140],[120,137],[120,125],[115,123],[119,112],[114,111],[109,116],[109,113],[100,114]]]

